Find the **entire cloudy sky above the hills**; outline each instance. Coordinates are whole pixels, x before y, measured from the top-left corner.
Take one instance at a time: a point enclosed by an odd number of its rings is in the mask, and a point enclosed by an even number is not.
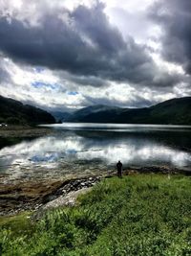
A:
[[[191,1],[0,0],[0,94],[47,110],[191,96]]]

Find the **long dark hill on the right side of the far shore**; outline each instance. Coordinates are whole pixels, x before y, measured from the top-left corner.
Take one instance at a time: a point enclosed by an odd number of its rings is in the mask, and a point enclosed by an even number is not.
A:
[[[117,124],[191,125],[191,97],[143,108],[96,105],[76,110],[66,121]]]

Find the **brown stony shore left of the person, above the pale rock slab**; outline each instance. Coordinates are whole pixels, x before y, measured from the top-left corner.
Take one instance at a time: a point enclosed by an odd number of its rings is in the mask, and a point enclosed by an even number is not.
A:
[[[96,185],[101,176],[74,178],[65,181],[5,184],[0,188],[0,216],[37,210],[59,197]],[[70,198],[69,198],[70,199]]]

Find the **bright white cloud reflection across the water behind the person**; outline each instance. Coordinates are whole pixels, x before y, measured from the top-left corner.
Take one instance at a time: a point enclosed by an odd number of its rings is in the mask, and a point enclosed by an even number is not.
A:
[[[161,142],[135,136],[85,137],[65,132],[24,141],[0,151],[0,166],[46,166],[57,168],[63,161],[100,159],[105,164],[121,160],[126,165],[191,166],[191,154]]]

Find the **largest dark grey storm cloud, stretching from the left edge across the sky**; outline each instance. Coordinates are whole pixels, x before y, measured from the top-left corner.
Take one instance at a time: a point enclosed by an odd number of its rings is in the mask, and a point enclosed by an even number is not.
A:
[[[103,9],[97,3],[92,8],[78,6],[73,12],[45,12],[39,26],[1,17],[0,50],[18,61],[100,81],[129,81],[148,86],[169,86],[180,81],[179,76],[175,81],[174,76],[159,71],[146,48],[132,37],[125,41]],[[100,81],[94,80],[91,85],[101,86]]]

